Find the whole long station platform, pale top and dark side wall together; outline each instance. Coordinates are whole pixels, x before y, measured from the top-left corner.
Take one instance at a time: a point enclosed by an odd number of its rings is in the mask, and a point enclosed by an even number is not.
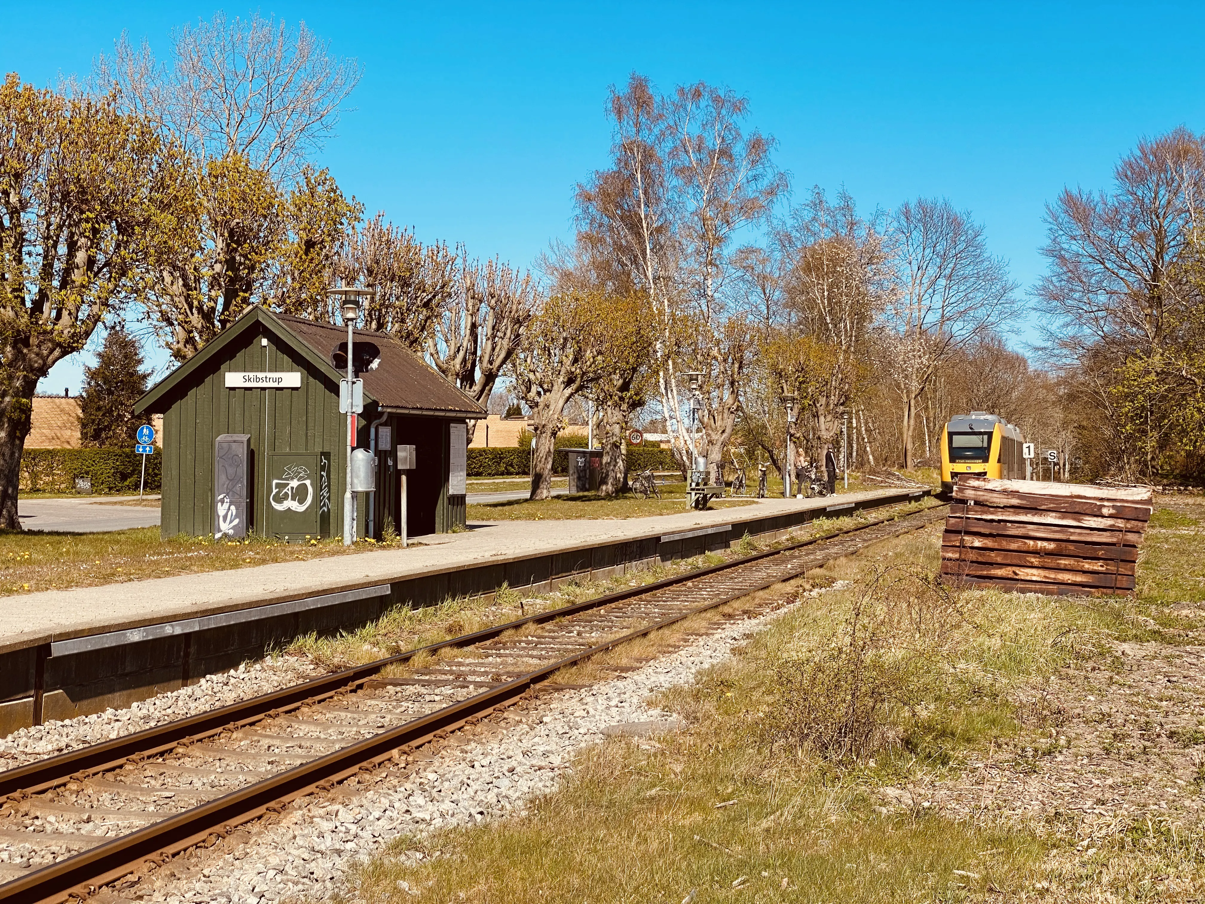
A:
[[[0,685],[16,693],[0,691],[0,723],[128,705],[237,665],[283,639],[353,628],[394,605],[492,593],[504,582],[542,592],[728,548],[746,533],[782,535],[819,517],[928,493],[764,499],[630,519],[471,523],[464,533],[415,538],[422,545],[406,550],[8,597],[0,605]]]

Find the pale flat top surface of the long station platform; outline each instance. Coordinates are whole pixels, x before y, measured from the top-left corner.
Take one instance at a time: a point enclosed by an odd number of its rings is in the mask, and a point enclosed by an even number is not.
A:
[[[523,559],[605,542],[740,524],[787,512],[906,493],[878,489],[823,499],[762,499],[753,505],[683,511],[646,518],[598,521],[470,522],[459,534],[415,538],[422,546],[282,562],[270,565],[155,577],[100,587],[43,591],[0,598],[0,652],[51,640],[194,618],[366,587],[481,563]],[[137,511],[135,509],[135,511]],[[839,513],[839,512],[837,512]]]

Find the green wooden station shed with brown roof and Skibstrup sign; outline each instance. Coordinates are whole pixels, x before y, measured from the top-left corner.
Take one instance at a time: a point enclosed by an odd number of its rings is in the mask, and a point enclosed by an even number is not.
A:
[[[346,346],[346,328],[255,306],[139,400],[164,416],[163,536],[342,534]],[[402,474],[411,536],[463,526],[468,422],[486,412],[388,334],[354,330],[352,354],[355,447],[376,476],[357,494],[357,536],[401,523]]]

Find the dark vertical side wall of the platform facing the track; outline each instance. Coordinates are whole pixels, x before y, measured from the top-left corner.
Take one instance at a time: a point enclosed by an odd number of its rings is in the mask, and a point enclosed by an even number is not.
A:
[[[118,626],[116,632],[94,628],[22,639],[0,648],[0,736],[30,724],[128,706],[259,658],[293,638],[357,628],[394,606],[490,595],[504,582],[533,593],[545,592],[583,576],[604,579],[729,548],[746,533],[774,539],[834,511],[848,515],[929,494],[928,489],[900,489],[792,512],[754,511],[700,530],[652,532],[618,541],[502,556],[474,565],[402,573],[387,581],[375,577],[333,585],[322,593],[311,589],[213,606],[188,620],[141,620]],[[386,583],[388,592],[382,592]],[[360,592],[365,589],[374,592]],[[128,633],[128,639],[118,636],[122,633]]]

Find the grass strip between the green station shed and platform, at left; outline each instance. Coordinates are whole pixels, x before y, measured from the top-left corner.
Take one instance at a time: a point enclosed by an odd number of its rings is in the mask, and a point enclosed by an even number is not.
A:
[[[0,597],[300,562],[370,548],[380,545],[345,547],[341,540],[289,545],[259,538],[239,542],[196,536],[161,540],[157,527],[96,534],[6,530],[0,532]]]

